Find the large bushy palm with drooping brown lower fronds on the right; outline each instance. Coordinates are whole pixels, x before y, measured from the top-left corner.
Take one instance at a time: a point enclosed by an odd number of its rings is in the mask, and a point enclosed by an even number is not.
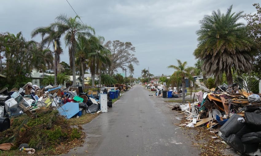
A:
[[[226,74],[228,84],[232,84],[232,70],[251,71],[254,58],[249,51],[253,46],[252,40],[246,33],[242,18],[243,11],[231,13],[232,6],[227,13],[220,10],[212,11],[212,15],[205,15],[200,20],[201,28],[196,32],[199,44],[194,51],[194,56],[204,61],[202,69],[216,76],[218,84],[222,74]]]

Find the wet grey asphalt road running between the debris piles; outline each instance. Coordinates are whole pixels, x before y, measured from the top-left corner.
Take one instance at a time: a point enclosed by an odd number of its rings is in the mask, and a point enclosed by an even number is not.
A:
[[[173,156],[198,155],[191,140],[173,123],[174,114],[163,100],[135,85],[88,124],[83,147],[68,156]]]

